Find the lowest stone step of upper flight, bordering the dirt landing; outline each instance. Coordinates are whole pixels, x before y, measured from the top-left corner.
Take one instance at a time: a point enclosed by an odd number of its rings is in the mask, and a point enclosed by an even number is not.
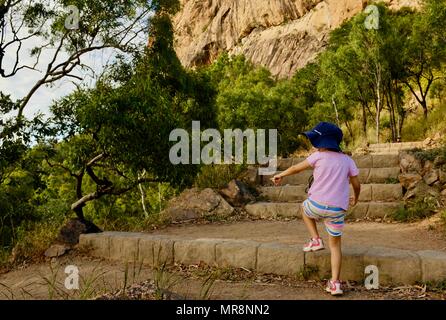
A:
[[[301,202],[266,202],[260,201],[245,206],[248,214],[261,219],[300,218]],[[402,208],[399,202],[358,202],[347,212],[347,219],[384,218]]]

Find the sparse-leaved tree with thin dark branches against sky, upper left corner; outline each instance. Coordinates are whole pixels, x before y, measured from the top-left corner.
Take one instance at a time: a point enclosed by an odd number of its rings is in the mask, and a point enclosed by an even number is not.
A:
[[[139,36],[147,34],[147,19],[160,1],[0,1],[0,79],[17,81],[25,70],[40,74],[17,100],[0,88],[0,175],[12,170],[24,156],[32,126],[41,123],[39,118],[24,117],[31,98],[43,86],[59,80],[82,80],[78,71],[86,75],[90,70],[82,59],[91,52],[141,51],[144,45]],[[77,26],[65,23],[71,23],[71,16],[76,19],[69,6],[79,10]],[[30,44],[37,45],[29,52],[26,46]],[[48,58],[46,63],[43,56]]]

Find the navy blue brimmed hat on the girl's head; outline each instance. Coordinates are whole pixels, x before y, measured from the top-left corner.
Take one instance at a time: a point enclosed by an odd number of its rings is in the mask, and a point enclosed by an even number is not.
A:
[[[310,131],[304,132],[315,148],[327,148],[341,151],[339,144],[342,141],[342,130],[330,122],[319,122]]]

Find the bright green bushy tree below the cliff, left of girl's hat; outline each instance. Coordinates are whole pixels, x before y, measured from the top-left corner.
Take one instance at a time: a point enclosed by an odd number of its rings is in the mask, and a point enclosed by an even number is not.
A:
[[[290,80],[276,81],[243,56],[223,54],[209,67],[215,83],[220,129],[277,129],[278,152],[287,155],[299,145],[306,123],[298,87]]]

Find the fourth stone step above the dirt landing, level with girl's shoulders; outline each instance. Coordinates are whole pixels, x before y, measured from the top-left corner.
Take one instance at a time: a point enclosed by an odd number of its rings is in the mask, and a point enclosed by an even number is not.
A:
[[[355,155],[352,158],[358,168],[389,168],[399,166],[398,154]],[[292,165],[304,160],[304,157],[277,159],[277,170],[286,170]]]

